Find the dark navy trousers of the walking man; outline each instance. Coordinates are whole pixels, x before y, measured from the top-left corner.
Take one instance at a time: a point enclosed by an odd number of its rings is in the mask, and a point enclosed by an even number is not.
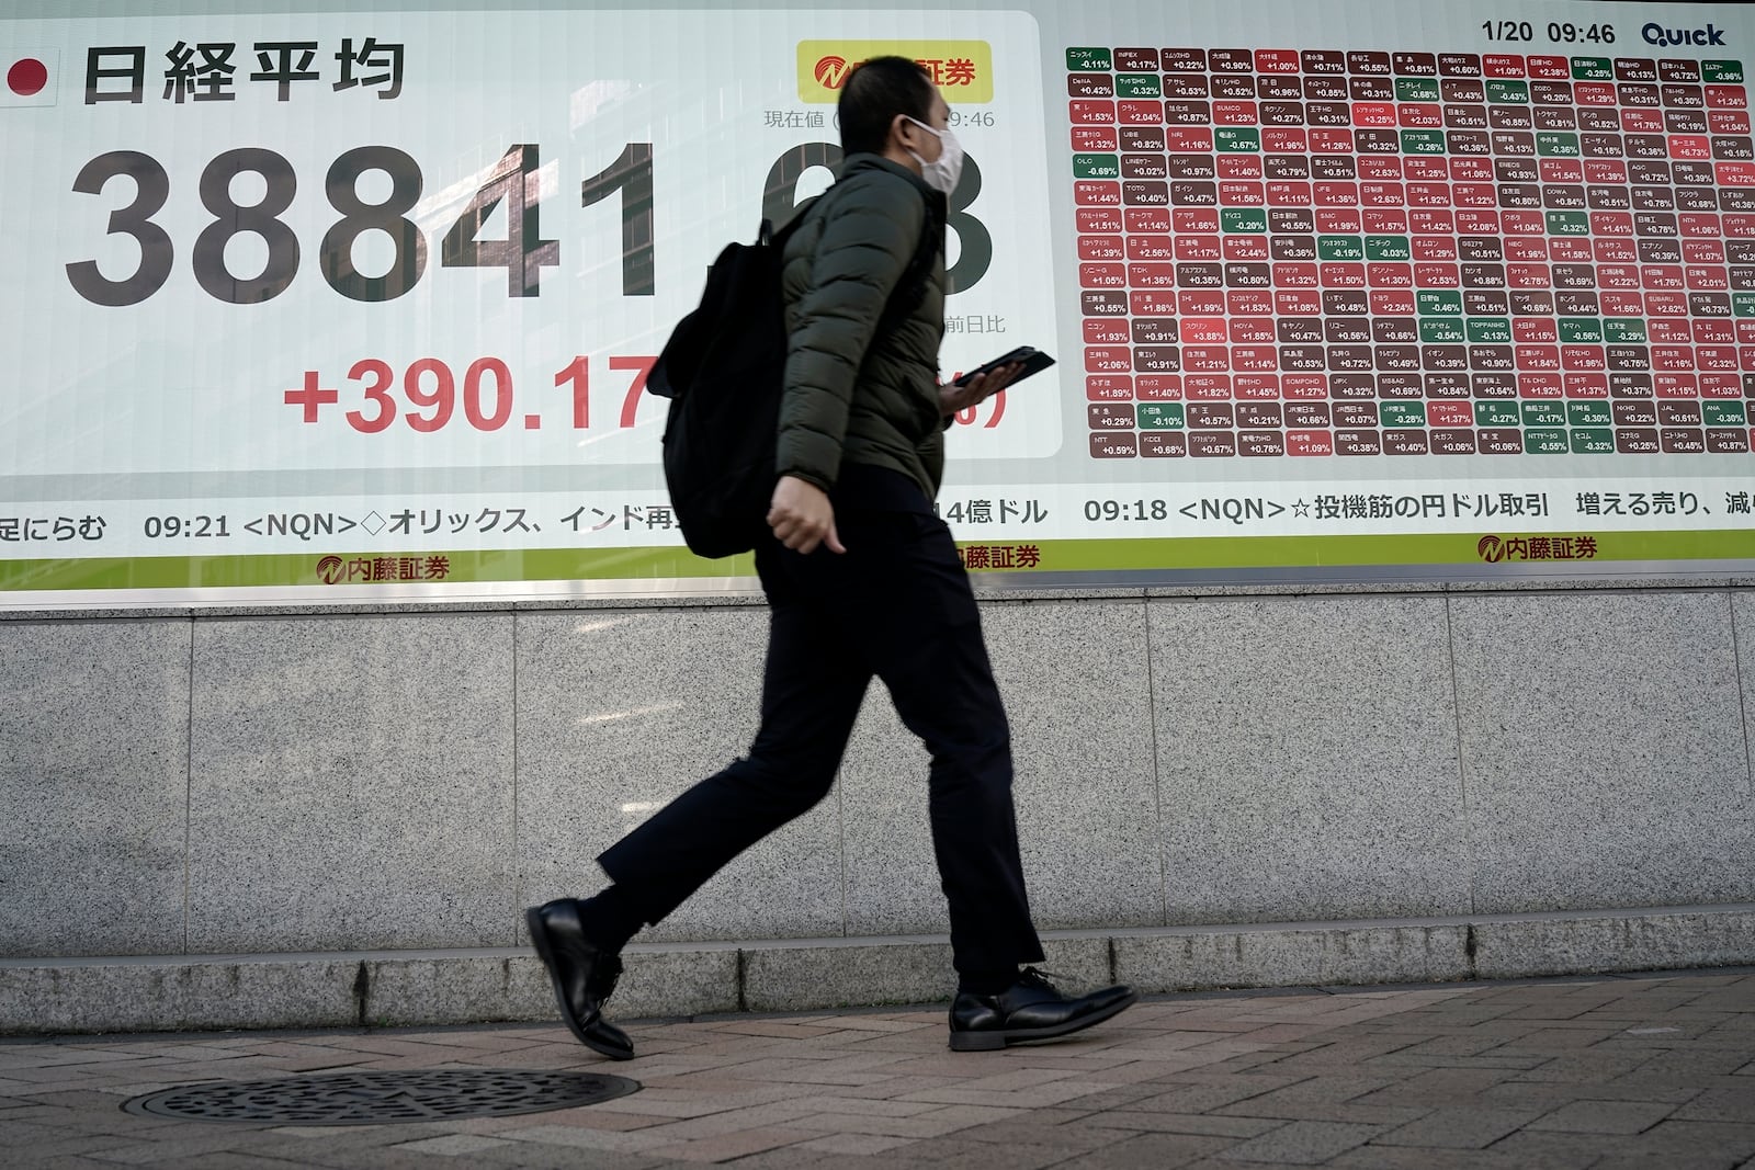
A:
[[[663,919],[828,795],[876,675],[932,753],[932,847],[958,974],[1041,961],[1018,860],[1011,733],[951,533],[920,488],[874,468],[844,477],[835,526],[844,554],[800,556],[772,539],[756,549],[770,628],[749,754],[672,800],[598,863],[644,921]]]

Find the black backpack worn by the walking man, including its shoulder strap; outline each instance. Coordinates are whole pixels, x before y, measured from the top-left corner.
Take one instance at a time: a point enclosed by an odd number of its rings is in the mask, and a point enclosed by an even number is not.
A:
[[[663,475],[683,540],[698,556],[734,556],[769,530],[776,432],[786,379],[781,258],[816,200],[779,230],[763,219],[755,244],[727,244],[707,268],[700,305],[677,321],[646,389],[670,400]],[[942,221],[930,212],[920,247],[897,282],[879,332],[914,310],[939,254]]]

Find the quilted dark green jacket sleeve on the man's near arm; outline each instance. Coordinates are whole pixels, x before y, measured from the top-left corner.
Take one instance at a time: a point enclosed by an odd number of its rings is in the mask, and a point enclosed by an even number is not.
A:
[[[860,365],[920,246],[925,218],[925,200],[904,179],[885,174],[849,181],[825,209],[786,342],[776,451],[781,475],[825,491],[835,486]]]

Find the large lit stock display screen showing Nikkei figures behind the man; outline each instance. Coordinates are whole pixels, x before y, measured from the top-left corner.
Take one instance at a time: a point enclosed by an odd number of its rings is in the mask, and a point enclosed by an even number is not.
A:
[[[88,5],[93,12],[112,5]],[[1750,5],[0,19],[0,605],[714,591],[644,379],[925,65],[1002,584],[1755,565]]]

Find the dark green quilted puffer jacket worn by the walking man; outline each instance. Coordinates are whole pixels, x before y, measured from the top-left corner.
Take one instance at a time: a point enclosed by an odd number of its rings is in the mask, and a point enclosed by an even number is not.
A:
[[[927,498],[944,475],[939,342],[944,337],[944,246],[925,295],[878,333],[892,289],[944,196],[906,167],[853,154],[786,242],[786,389],[779,409],[781,475],[825,491],[841,465],[870,463],[914,479]],[[904,293],[906,296],[906,293]]]

